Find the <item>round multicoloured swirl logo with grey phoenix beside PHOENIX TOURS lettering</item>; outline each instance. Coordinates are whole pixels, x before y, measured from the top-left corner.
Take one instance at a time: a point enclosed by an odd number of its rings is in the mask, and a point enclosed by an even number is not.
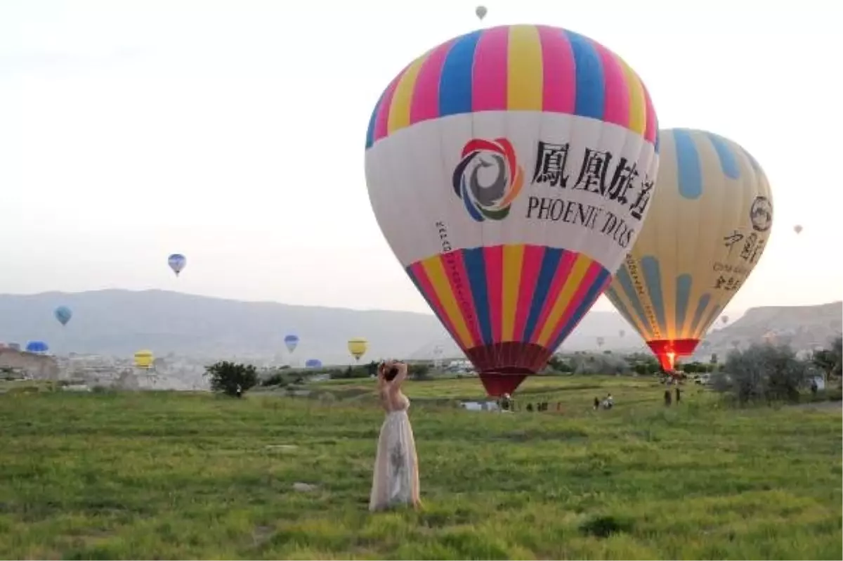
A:
[[[495,179],[483,184],[481,173],[494,175]],[[524,169],[518,165],[513,145],[506,138],[474,138],[463,148],[453,184],[454,193],[462,199],[471,218],[477,222],[502,220],[524,187]]]

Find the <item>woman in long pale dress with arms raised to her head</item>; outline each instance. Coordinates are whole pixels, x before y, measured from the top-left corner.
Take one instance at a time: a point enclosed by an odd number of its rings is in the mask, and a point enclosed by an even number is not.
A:
[[[378,367],[378,396],[386,411],[374,461],[369,510],[386,510],[397,505],[421,504],[416,441],[407,409],[410,400],[401,391],[407,365],[388,362]]]

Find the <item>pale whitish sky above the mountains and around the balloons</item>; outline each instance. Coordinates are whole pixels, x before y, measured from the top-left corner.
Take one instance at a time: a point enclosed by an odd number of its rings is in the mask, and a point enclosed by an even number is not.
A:
[[[485,5],[484,26],[598,40],[642,76],[661,127],[717,132],[760,161],[775,224],[728,314],[843,299],[834,3]],[[3,0],[0,293],[155,288],[429,311],[369,206],[363,142],[384,87],[478,27],[475,6]],[[178,279],[173,252],[188,256]]]

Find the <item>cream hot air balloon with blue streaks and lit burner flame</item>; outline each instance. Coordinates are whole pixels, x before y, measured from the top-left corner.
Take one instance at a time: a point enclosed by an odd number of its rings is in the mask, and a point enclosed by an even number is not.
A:
[[[711,132],[660,132],[658,196],[606,295],[664,370],[689,356],[760,259],[770,185],[744,148]]]

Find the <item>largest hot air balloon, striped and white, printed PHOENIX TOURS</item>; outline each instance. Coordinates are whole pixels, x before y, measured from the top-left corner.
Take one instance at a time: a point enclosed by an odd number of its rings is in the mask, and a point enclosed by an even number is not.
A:
[[[657,129],[626,62],[541,25],[448,40],[384,91],[366,138],[375,217],[489,395],[545,366],[631,249]]]

